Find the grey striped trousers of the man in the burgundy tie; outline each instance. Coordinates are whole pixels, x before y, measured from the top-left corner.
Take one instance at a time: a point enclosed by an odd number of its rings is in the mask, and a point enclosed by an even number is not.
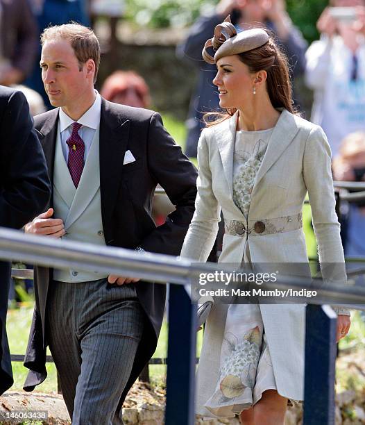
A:
[[[72,424],[123,424],[117,405],[144,323],[135,285],[52,281],[45,322]]]

